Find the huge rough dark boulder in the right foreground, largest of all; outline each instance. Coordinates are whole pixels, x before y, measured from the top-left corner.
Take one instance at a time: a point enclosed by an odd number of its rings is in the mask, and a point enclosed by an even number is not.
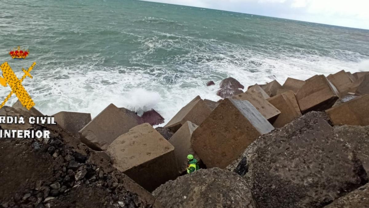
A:
[[[320,208],[368,182],[354,149],[336,138],[324,114],[309,112],[240,155],[259,207]]]

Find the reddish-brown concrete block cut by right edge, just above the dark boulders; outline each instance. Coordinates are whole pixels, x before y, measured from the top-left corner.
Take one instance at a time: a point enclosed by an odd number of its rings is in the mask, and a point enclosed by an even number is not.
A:
[[[334,125],[369,125],[369,95],[362,95],[327,110]]]

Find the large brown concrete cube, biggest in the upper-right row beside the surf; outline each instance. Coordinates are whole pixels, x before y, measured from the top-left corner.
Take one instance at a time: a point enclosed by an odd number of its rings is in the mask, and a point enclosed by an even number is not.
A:
[[[337,89],[324,75],[315,75],[296,94],[301,113],[326,110],[338,99]]]

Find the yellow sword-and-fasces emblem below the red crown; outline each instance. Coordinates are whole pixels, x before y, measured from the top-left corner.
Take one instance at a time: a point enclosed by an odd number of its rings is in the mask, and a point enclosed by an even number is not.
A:
[[[3,85],[4,87],[6,87],[7,84],[9,84],[11,92],[5,98],[3,103],[1,103],[0,108],[2,108],[5,105],[5,103],[9,100],[12,94],[17,95],[18,100],[25,108],[27,108],[27,110],[30,110],[32,107],[35,106],[35,103],[33,102],[31,96],[27,93],[27,91],[22,85],[22,82],[26,77],[30,77],[32,79],[30,72],[32,71],[32,68],[35,65],[36,62],[34,62],[32,66],[28,68],[28,70],[22,68],[24,75],[21,79],[18,79],[18,77],[15,75],[14,71],[10,68],[7,62],[1,64],[0,69],[3,72],[3,77],[0,77],[0,84]]]

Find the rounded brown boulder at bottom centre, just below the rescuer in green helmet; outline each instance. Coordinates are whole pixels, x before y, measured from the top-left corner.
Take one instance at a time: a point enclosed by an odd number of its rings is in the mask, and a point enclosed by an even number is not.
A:
[[[164,207],[257,207],[246,180],[220,168],[181,176],[161,185],[152,194]]]

